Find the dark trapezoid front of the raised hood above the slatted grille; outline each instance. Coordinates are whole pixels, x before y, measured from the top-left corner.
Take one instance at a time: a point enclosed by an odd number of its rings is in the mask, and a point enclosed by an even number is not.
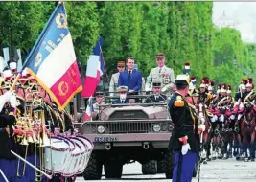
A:
[[[110,115],[109,120],[143,120],[148,119],[148,115],[142,110],[115,111]]]

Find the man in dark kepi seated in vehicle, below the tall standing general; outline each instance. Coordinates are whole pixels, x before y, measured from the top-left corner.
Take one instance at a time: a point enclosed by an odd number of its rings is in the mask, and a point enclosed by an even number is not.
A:
[[[166,102],[166,95],[161,94],[161,82],[153,82],[152,83],[153,94],[146,99],[146,103],[150,102]]]

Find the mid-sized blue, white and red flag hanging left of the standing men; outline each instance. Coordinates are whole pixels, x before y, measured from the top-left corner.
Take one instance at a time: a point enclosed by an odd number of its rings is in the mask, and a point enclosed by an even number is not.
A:
[[[105,61],[102,52],[102,43],[103,38],[101,37],[93,48],[93,54],[90,55],[87,62],[86,77],[81,91],[81,96],[84,98],[94,95],[101,76],[105,74]]]

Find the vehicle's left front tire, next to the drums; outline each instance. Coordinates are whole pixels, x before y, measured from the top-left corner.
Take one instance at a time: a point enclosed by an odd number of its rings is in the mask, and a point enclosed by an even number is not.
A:
[[[92,152],[87,167],[83,171],[84,180],[99,180],[102,178],[103,164],[97,157],[96,153]]]

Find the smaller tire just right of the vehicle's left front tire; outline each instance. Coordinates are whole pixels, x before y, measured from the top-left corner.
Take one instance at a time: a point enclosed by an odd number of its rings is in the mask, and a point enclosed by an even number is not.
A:
[[[105,178],[120,179],[122,177],[123,165],[117,161],[106,161],[104,164]]]

